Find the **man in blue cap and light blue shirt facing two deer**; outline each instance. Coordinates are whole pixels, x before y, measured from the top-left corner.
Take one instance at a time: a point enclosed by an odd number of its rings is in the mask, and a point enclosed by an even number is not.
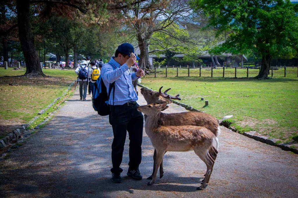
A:
[[[136,101],[138,96],[134,91],[132,80],[145,75],[142,69],[130,73],[129,68],[139,60],[134,54],[134,47],[129,43],[118,46],[115,57],[111,57],[101,69],[101,77],[109,90],[111,83],[115,82],[112,88],[109,104],[112,105],[109,121],[113,128],[114,139],[112,143],[112,181],[121,183],[120,168],[126,139],[126,131],[129,135],[129,168],[127,175],[140,180],[142,175],[139,172],[139,164],[142,160],[142,136],[143,136],[143,115],[136,110],[139,106]],[[114,89],[114,90],[113,90]],[[112,94],[114,93],[114,94]]]

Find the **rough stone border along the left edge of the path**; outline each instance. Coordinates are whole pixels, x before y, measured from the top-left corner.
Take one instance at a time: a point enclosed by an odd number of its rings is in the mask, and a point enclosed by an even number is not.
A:
[[[67,90],[63,92],[62,96],[57,97],[46,108],[44,108],[43,110],[39,111],[38,112],[38,116],[35,116],[31,121],[29,121],[26,124],[21,124],[18,128],[13,129],[13,131],[11,133],[8,133],[6,137],[0,139],[0,149],[4,149],[8,145],[10,145],[12,148],[18,148],[20,146],[20,144],[22,144],[27,139],[27,137],[30,136],[31,133],[33,132],[31,129],[28,129],[28,127],[32,123],[34,123],[34,121],[37,120],[40,117],[40,115],[42,115],[46,110],[48,110],[50,107],[52,107],[58,100],[60,100],[64,96],[66,96],[66,94],[68,93],[68,91],[72,88],[72,86],[75,83],[76,83],[76,80],[74,80],[72,83],[70,83],[70,85],[68,86]],[[59,108],[60,107],[58,107],[58,109]],[[39,123],[34,129],[39,129],[42,125],[44,125],[47,121],[49,121],[53,117],[53,115],[55,114],[55,112],[58,109],[56,109],[55,111],[53,111],[51,113],[51,115],[49,115],[49,117],[47,117],[46,119],[44,119],[44,121],[42,121],[41,123]],[[13,144],[11,144],[11,143],[13,143]],[[5,156],[5,154],[4,154],[4,156]]]

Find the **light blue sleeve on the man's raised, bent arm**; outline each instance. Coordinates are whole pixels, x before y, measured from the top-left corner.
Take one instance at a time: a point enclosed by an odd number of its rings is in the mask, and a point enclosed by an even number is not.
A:
[[[109,64],[104,64],[101,69],[101,77],[108,83],[113,83],[116,81],[121,75],[124,74],[128,70],[128,66],[123,64],[117,69],[113,70],[112,66]]]

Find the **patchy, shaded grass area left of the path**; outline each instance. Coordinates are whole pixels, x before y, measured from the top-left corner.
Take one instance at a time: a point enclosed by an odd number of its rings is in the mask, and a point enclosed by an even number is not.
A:
[[[51,77],[3,77],[23,75],[25,71],[0,68],[0,134],[30,121],[77,77],[74,70],[43,69],[43,72]]]

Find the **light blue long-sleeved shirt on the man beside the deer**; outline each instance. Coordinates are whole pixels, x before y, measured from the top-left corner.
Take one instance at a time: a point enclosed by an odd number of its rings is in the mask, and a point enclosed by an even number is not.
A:
[[[114,69],[113,69],[114,68]],[[136,80],[138,77],[135,73],[129,73],[129,68],[126,64],[120,65],[111,57],[108,63],[105,63],[100,71],[103,83],[107,88],[110,83],[115,81],[115,97],[113,103],[113,89],[111,90],[109,104],[122,105],[127,102],[137,101],[138,96],[134,90],[131,80]]]

